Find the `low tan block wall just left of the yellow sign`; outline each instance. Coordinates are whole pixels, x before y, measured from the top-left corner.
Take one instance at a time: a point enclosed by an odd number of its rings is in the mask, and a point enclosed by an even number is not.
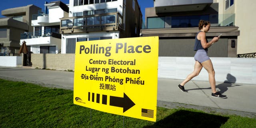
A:
[[[75,54],[31,54],[32,68],[73,70]]]

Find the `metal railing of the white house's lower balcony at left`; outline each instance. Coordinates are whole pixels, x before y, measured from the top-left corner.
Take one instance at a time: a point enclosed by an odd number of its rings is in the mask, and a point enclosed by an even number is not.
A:
[[[20,39],[38,38],[40,36],[52,36],[51,30],[36,31],[36,32],[24,32],[20,34]]]

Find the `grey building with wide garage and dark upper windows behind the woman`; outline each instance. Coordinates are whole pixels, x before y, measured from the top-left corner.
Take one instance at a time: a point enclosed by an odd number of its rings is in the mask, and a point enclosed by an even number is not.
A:
[[[232,4],[234,0],[228,1]],[[230,2],[228,4],[232,7]],[[236,14],[222,13],[222,6],[218,0],[154,0],[154,7],[145,9],[146,29],[141,30],[141,36],[159,36],[159,56],[194,56],[198,22],[208,20],[211,28],[207,39],[222,34],[208,50],[208,55],[236,57],[240,26],[236,25]]]

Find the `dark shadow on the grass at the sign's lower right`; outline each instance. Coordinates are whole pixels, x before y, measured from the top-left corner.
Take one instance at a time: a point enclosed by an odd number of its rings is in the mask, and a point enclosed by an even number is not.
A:
[[[228,119],[224,116],[179,110],[144,128],[220,128]]]

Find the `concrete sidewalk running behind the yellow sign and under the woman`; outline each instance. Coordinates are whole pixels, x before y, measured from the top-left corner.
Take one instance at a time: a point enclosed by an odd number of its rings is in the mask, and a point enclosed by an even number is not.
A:
[[[47,87],[73,90],[74,72],[0,66],[0,78],[23,81]],[[206,112],[221,112],[256,118],[256,85],[216,83],[216,90],[226,99],[212,98],[209,82],[190,81],[181,92],[182,80],[158,78],[158,106],[194,108]]]

